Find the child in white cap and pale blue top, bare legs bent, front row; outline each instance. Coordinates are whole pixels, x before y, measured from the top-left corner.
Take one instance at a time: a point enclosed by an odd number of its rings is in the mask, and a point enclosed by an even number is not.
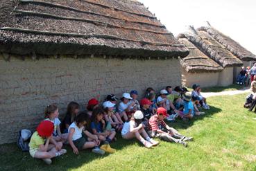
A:
[[[158,141],[154,141],[148,136],[142,124],[142,111],[135,111],[135,114],[130,118],[129,122],[124,123],[121,136],[124,139],[137,138],[145,147],[150,148],[153,145],[158,145]],[[143,138],[143,137],[144,138]]]

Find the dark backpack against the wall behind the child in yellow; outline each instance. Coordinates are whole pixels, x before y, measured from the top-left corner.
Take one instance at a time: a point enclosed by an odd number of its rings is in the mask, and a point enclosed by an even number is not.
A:
[[[19,131],[19,136],[17,138],[17,145],[22,150],[22,152],[29,151],[29,141],[31,141],[32,132],[28,129],[22,129]]]

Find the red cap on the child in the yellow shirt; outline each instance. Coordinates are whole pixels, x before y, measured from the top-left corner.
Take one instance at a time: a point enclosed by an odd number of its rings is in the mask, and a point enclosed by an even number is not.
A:
[[[37,133],[43,137],[49,137],[53,134],[54,125],[50,120],[42,121],[37,127]]]

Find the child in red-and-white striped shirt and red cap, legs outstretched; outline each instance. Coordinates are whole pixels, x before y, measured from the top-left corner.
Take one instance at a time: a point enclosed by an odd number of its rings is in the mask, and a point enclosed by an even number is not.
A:
[[[164,118],[168,116],[164,107],[157,108],[157,114],[151,116],[148,122],[148,134],[152,137],[161,138],[164,141],[180,143],[187,147],[185,141],[191,141],[192,137],[181,135],[176,129],[164,123]]]

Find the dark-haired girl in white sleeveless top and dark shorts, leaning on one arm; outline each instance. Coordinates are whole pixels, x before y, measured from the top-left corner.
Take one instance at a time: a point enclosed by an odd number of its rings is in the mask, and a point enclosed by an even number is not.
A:
[[[84,130],[84,126],[89,120],[89,115],[84,111],[76,116],[74,122],[69,126],[69,145],[72,147],[74,154],[78,154],[79,150],[93,148],[92,152],[96,154],[105,154],[99,149],[100,141],[98,136]]]

